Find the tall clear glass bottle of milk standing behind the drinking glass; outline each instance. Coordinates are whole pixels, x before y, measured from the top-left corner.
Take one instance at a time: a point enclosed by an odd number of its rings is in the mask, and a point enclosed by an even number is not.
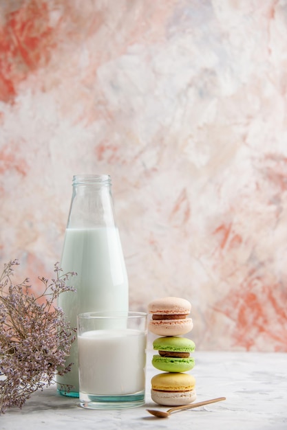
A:
[[[75,292],[59,297],[59,306],[77,326],[77,315],[96,311],[127,311],[129,286],[127,271],[114,219],[109,175],[73,177],[72,202],[65,231],[61,260],[63,273],[75,271]],[[73,385],[69,392],[58,384],[60,394],[78,397],[77,342],[67,363],[74,363],[65,376],[56,376],[59,384]],[[96,369],[95,369],[96,371]]]

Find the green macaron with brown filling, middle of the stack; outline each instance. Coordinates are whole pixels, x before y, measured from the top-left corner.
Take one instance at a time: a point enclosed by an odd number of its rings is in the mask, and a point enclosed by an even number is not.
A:
[[[194,367],[190,352],[195,350],[191,339],[178,336],[159,337],[153,341],[153,349],[159,354],[152,359],[153,367],[163,372],[188,372]]]

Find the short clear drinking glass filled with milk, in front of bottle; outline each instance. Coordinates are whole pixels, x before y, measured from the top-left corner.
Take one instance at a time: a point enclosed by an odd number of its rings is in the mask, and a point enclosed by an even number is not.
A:
[[[147,314],[78,315],[80,405],[122,409],[145,403]]]

